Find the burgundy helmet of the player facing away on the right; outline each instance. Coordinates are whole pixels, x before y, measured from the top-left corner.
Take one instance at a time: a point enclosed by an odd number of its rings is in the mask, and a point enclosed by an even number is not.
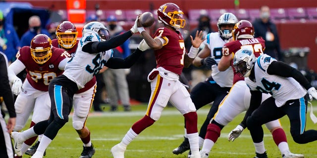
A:
[[[248,20],[240,20],[233,29],[233,40],[254,38],[254,28]]]

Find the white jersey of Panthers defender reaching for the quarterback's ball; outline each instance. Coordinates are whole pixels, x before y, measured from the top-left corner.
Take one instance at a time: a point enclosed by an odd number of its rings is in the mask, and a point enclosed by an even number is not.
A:
[[[92,41],[100,41],[99,36],[94,33],[84,34],[78,43],[75,55],[68,61],[63,73],[68,79],[74,81],[79,89],[93,79],[108,59],[113,57],[112,49],[96,54],[82,51],[83,46]]]

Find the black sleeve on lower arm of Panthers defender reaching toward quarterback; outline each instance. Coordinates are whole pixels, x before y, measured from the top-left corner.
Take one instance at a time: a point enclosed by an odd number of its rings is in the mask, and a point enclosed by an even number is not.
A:
[[[142,55],[142,52],[139,48],[137,48],[131,55],[126,57],[125,59],[122,58],[110,58],[105,66],[110,69],[128,69],[138,61],[139,57]]]

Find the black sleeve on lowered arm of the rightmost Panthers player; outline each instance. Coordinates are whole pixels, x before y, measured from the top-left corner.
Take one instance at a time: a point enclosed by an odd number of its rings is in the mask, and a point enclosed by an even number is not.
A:
[[[245,129],[247,127],[247,118],[251,116],[251,114],[261,105],[262,100],[262,92],[250,90],[251,99],[250,99],[250,107],[247,110],[242,122],[240,125]]]

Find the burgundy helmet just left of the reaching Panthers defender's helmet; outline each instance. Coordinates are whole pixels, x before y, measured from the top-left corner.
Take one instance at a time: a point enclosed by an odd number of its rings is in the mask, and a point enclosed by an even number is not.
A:
[[[63,21],[59,24],[55,34],[58,44],[65,49],[70,49],[76,44],[78,32],[75,25],[70,21]],[[73,37],[68,38],[68,36],[65,37],[63,35],[72,35]]]

